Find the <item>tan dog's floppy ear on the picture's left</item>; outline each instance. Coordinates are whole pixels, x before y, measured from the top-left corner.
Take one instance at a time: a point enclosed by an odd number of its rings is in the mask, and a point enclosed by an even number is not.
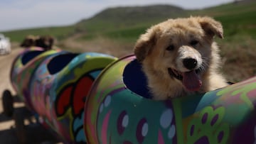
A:
[[[149,28],[146,33],[142,34],[137,40],[137,43],[134,46],[134,55],[139,62],[142,62],[154,47],[156,43],[157,29],[158,28],[155,27]]]

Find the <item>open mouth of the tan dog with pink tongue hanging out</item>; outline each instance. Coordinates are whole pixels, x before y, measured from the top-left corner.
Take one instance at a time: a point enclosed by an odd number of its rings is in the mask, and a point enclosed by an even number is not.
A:
[[[178,70],[168,68],[168,72],[170,77],[180,80],[188,91],[198,91],[202,86],[201,77],[199,76],[201,74],[200,68],[189,72],[179,72]]]

